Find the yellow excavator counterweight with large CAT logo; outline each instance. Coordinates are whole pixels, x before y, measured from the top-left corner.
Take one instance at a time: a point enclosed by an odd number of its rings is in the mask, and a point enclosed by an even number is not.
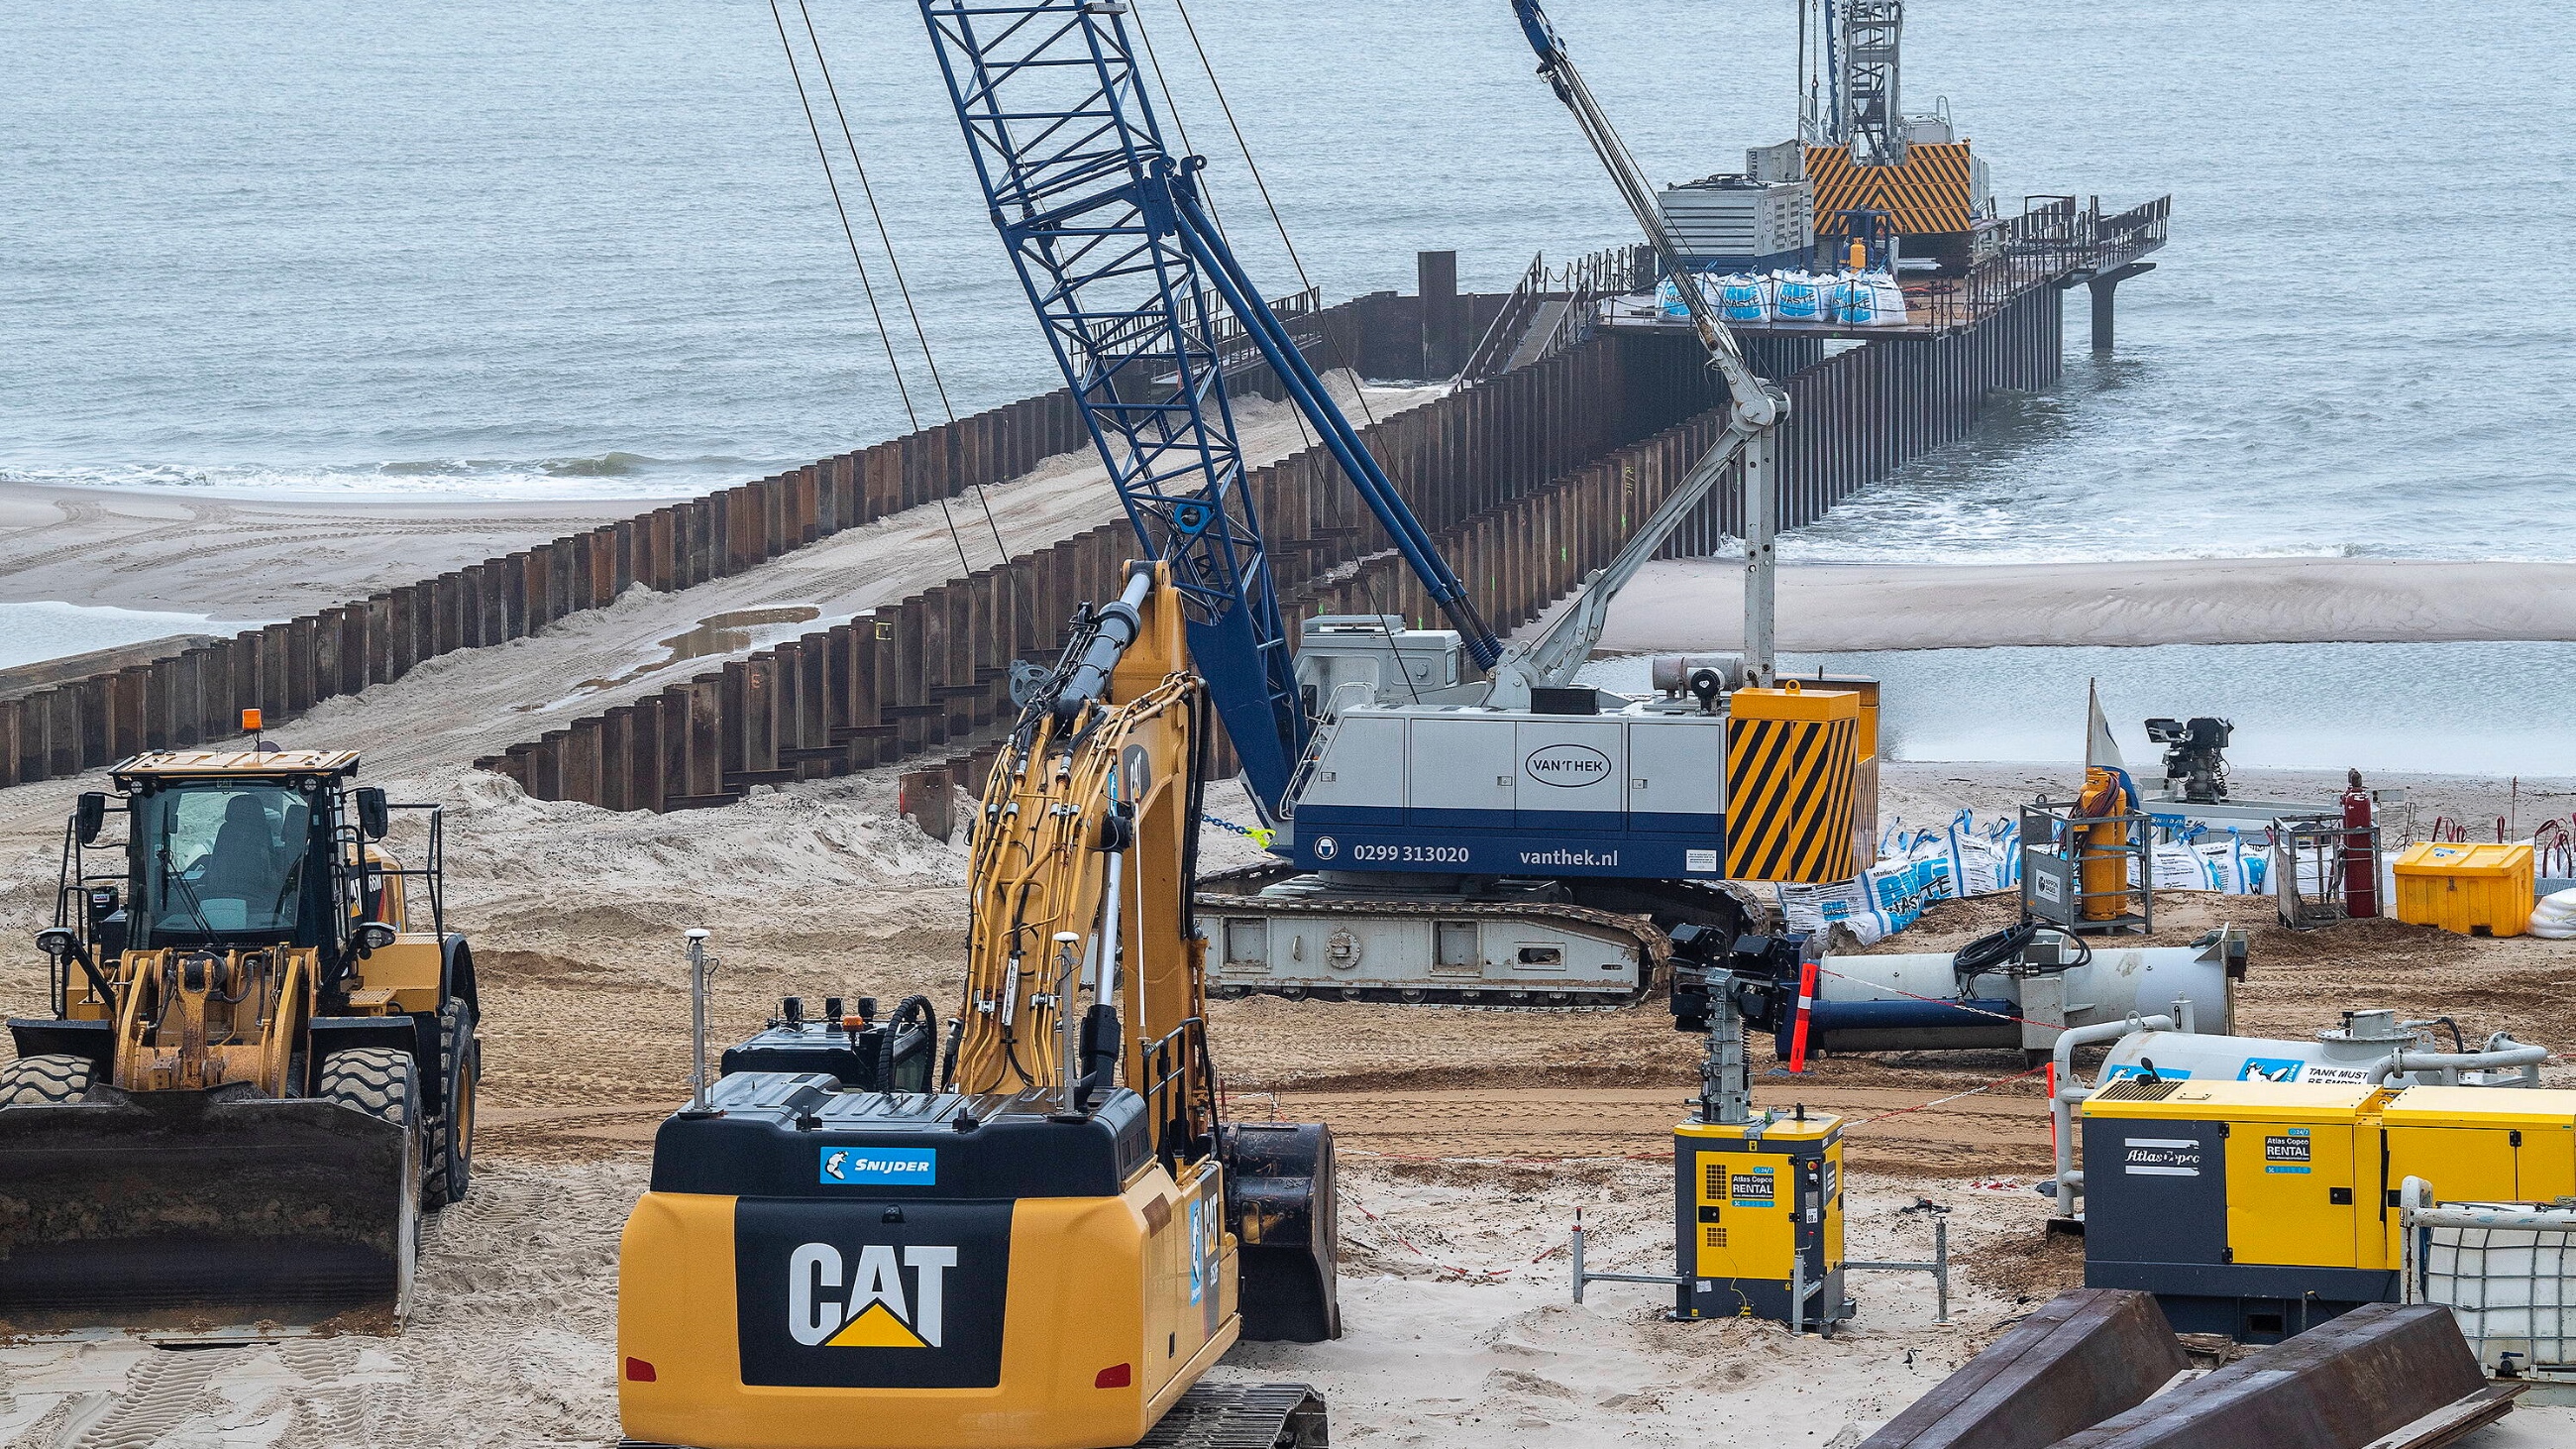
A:
[[[618,1415],[693,1449],[1133,1444],[1234,1346],[1234,1287],[1216,1163],[1118,1196],[652,1191]]]

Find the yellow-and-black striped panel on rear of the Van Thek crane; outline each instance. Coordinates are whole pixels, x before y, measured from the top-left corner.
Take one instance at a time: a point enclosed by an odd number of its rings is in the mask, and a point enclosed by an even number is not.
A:
[[[1857,719],[1726,724],[1726,879],[1852,879]]]

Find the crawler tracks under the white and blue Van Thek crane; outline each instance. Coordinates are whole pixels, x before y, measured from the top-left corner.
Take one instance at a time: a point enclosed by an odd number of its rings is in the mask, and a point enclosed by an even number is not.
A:
[[[1739,926],[1744,908],[1716,887],[1698,882],[1605,882],[1623,897],[1620,905],[1638,910],[1607,910],[1602,905],[1540,902],[1540,900],[1401,900],[1401,897],[1265,897],[1262,887],[1296,877],[1296,866],[1262,861],[1200,877],[1200,890],[1190,905],[1195,913],[1291,918],[1440,918],[1440,920],[1553,920],[1592,928],[1595,933],[1625,936],[1638,949],[1636,985],[1625,990],[1558,990],[1551,985],[1497,987],[1443,985],[1425,972],[1417,985],[1296,985],[1255,980],[1211,980],[1211,995],[1280,995],[1288,1000],[1386,1000],[1401,1006],[1461,1006],[1479,1011],[1620,1011],[1636,1006],[1664,980],[1669,954],[1667,920],[1721,920]]]

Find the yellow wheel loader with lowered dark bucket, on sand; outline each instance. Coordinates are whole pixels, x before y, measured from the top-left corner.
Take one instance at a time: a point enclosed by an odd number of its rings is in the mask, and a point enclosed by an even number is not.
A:
[[[255,730],[255,712],[245,727]],[[443,820],[348,750],[152,750],[64,828],[0,1067],[0,1336],[386,1328],[474,1171]],[[422,864],[381,846],[422,812]],[[116,828],[121,822],[121,830]]]

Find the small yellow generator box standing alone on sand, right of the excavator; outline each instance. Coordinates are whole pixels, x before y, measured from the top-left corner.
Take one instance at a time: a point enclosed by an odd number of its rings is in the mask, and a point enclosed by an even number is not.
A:
[[[1834,1114],[1672,1129],[1677,1318],[1829,1325],[1842,1312],[1842,1119]]]

